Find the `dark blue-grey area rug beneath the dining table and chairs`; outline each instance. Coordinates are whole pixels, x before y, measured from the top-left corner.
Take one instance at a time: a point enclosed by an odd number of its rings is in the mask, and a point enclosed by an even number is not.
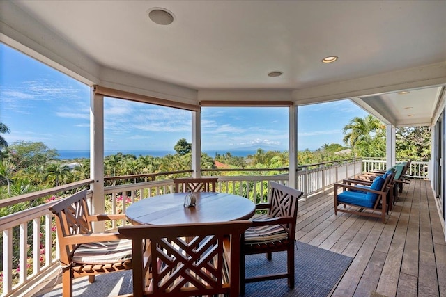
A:
[[[245,297],[327,296],[352,261],[351,257],[299,241],[297,248],[293,290],[287,286],[286,279],[253,282],[246,284]],[[286,271],[286,253],[273,253],[271,261],[268,261],[265,255],[249,255],[246,257],[246,271],[247,276],[284,272]],[[89,284],[86,278],[75,279],[73,283],[73,296],[107,297],[131,293],[132,271],[97,275],[93,284]],[[54,287],[52,291],[41,292],[37,296],[62,296],[61,285]]]

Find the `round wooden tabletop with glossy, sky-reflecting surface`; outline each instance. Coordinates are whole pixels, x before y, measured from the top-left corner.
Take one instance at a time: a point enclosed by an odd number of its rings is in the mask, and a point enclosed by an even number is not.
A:
[[[254,203],[227,193],[196,192],[197,204],[184,207],[187,193],[171,193],[134,202],[125,211],[133,225],[171,225],[245,220],[254,215]]]

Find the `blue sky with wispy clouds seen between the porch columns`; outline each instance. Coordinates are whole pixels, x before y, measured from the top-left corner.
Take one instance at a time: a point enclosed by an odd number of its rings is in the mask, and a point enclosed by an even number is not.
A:
[[[0,43],[0,122],[8,143],[41,141],[56,150],[89,150],[90,90],[65,74]],[[191,112],[105,98],[105,150],[172,150],[191,141]],[[342,128],[367,115],[348,100],[299,106],[298,150],[342,144]],[[201,110],[202,149],[288,149],[288,109]]]

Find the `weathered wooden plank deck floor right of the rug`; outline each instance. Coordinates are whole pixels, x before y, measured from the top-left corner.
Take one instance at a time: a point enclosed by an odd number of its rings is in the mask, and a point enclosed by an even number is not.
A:
[[[446,296],[446,243],[429,181],[405,185],[387,222],[338,213],[332,191],[300,202],[298,241],[353,257],[330,296]]]

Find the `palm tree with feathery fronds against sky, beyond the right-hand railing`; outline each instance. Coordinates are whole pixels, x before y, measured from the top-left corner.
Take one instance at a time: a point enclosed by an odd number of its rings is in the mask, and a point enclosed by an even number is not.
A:
[[[366,115],[365,118],[355,117],[344,127],[344,143],[355,148],[360,141],[369,143],[374,133],[380,127],[380,120],[373,115]]]

